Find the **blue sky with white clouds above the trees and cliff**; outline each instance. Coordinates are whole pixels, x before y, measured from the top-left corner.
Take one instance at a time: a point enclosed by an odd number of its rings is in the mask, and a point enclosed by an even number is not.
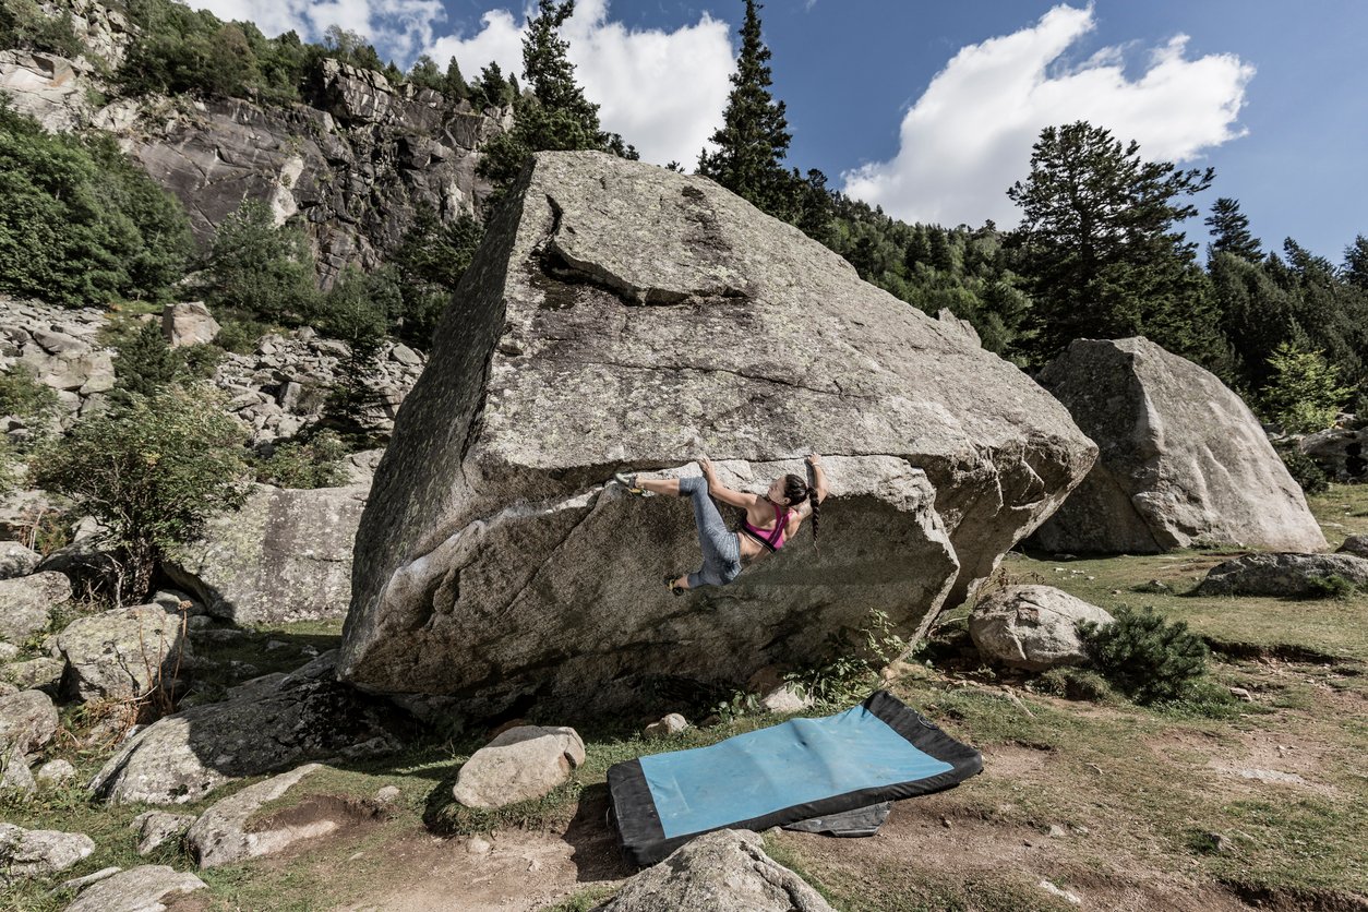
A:
[[[520,63],[531,4],[192,0],[274,34],[338,22],[408,66]],[[740,0],[579,0],[566,34],[605,124],[692,167],[721,119]],[[1146,157],[1216,168],[1267,249],[1339,263],[1368,234],[1368,3],[770,0],[761,12],[789,163],[908,220],[1015,223],[1005,198],[1047,123],[1088,119]],[[1205,239],[1200,219],[1186,226]]]

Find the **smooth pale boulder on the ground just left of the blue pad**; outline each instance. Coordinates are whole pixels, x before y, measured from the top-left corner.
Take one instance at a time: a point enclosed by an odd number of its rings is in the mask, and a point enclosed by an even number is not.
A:
[[[569,727],[520,726],[476,751],[451,794],[472,808],[499,808],[547,794],[584,763],[584,741]]]

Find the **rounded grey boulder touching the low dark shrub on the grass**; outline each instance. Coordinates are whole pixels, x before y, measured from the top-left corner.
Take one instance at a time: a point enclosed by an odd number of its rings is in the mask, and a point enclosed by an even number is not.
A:
[[[969,634],[985,659],[1044,671],[1088,660],[1075,623],[1112,622],[1112,615],[1048,585],[1011,585],[993,592],[969,615]]]

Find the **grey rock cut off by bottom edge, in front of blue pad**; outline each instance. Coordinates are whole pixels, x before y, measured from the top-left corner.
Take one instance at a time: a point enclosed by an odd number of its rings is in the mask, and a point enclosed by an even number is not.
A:
[[[822,894],[765,855],[761,837],[715,830],[631,878],[595,912],[832,912]]]

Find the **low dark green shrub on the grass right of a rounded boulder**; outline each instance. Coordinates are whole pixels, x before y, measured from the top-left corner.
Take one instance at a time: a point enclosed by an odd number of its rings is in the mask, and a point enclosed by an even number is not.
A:
[[[1079,621],[1078,636],[1093,666],[1137,703],[1179,697],[1207,671],[1207,644],[1182,621],[1153,608],[1120,608],[1115,622]]]

